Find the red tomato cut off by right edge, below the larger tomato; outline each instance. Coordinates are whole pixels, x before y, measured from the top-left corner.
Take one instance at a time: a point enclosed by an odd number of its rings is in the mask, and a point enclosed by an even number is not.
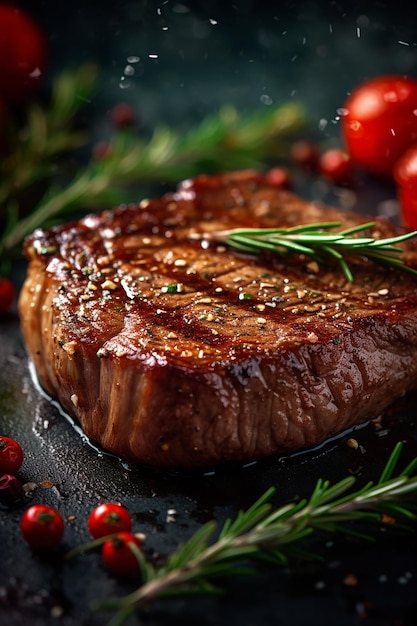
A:
[[[397,161],[394,180],[402,221],[408,228],[417,230],[417,144],[408,148]]]

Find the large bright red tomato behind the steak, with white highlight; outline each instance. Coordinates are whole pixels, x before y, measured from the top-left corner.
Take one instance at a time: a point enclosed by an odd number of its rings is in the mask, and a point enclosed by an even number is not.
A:
[[[391,178],[395,162],[417,141],[417,80],[372,78],[352,91],[343,111],[342,133],[352,162]]]

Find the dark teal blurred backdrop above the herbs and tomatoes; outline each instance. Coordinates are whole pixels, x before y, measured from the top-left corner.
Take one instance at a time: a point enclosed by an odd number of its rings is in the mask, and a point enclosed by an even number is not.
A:
[[[49,71],[101,67],[91,113],[123,100],[145,127],[187,125],[224,103],[242,110],[296,99],[338,136],[348,92],[378,74],[417,76],[417,12],[400,2],[38,0]],[[407,3],[407,7],[409,4]]]

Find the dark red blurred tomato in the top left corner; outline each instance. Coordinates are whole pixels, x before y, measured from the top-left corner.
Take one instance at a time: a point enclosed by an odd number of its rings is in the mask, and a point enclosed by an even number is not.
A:
[[[36,90],[47,57],[45,38],[22,9],[0,6],[0,94],[6,101],[22,102]]]

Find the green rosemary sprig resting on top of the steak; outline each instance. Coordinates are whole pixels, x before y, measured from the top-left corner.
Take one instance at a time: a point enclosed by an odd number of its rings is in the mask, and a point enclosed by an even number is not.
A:
[[[417,276],[417,269],[405,265],[401,257],[404,251],[396,245],[416,237],[417,231],[386,239],[352,236],[376,226],[375,222],[368,222],[342,231],[329,232],[341,225],[341,222],[320,222],[291,228],[236,228],[205,233],[204,238],[223,242],[252,254],[272,252],[285,256],[293,252],[308,256],[318,263],[325,263],[326,259],[333,258],[349,282],[353,281],[353,274],[346,257],[351,256],[366,257],[379,265]]]

